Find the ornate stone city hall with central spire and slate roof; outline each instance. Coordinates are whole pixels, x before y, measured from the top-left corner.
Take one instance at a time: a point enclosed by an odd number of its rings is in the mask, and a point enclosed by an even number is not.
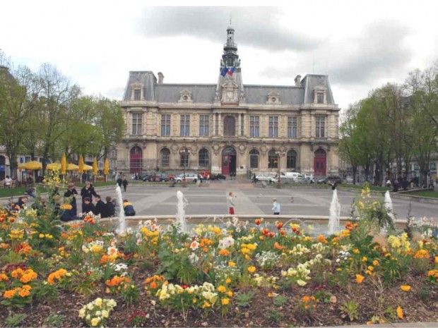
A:
[[[338,173],[338,105],[327,75],[297,75],[295,85],[245,85],[233,28],[227,28],[217,84],[166,84],[131,71],[126,133],[117,171],[202,170]]]

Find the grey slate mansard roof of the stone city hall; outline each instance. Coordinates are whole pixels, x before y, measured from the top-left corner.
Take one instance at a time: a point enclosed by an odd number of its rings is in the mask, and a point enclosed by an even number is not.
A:
[[[239,83],[241,76],[237,76]],[[124,92],[123,100],[131,100],[131,85],[143,85],[144,100],[158,103],[177,103],[180,92],[188,90],[194,103],[213,104],[216,84],[166,84],[158,83],[152,71],[131,71]],[[240,83],[239,83],[240,85]],[[243,85],[246,104],[266,104],[270,92],[278,92],[283,105],[312,104],[314,90],[319,87],[326,92],[326,104],[335,105],[329,77],[327,75],[308,74],[302,78],[299,86],[284,85]],[[242,92],[239,87],[239,93]]]

